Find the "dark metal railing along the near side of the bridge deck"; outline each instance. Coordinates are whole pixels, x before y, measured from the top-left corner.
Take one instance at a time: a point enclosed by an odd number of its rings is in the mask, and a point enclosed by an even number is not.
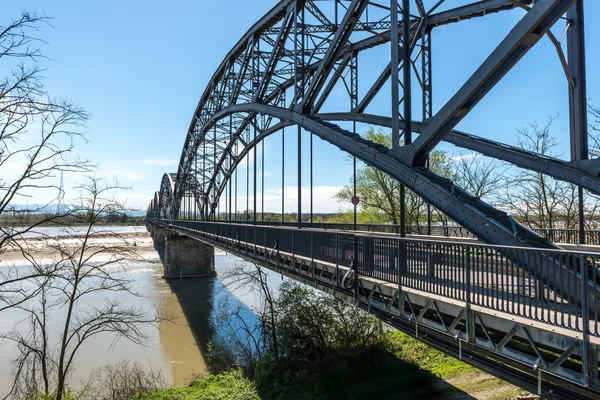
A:
[[[381,284],[600,336],[600,253],[250,224],[161,222],[198,238],[218,238],[246,250],[248,245],[261,246],[270,254],[352,269]],[[581,282],[587,282],[585,290]]]

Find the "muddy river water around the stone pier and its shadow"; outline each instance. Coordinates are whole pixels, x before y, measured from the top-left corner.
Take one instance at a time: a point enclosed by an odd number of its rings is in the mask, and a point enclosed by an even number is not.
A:
[[[121,229],[122,232],[133,232],[140,228]],[[141,296],[120,295],[119,300],[124,305],[156,308],[170,320],[160,322],[158,326],[145,326],[144,333],[148,336],[148,341],[144,345],[126,340],[115,342],[112,334],[101,334],[85,342],[78,352],[76,369],[71,379],[72,386],[79,386],[79,382],[88,379],[98,368],[124,359],[160,370],[168,383],[176,386],[185,385],[194,375],[207,374],[206,346],[218,334],[215,332],[213,318],[220,299],[229,298],[239,303],[243,318],[250,323],[256,321],[252,311],[257,302],[254,295],[239,291],[234,293],[223,282],[224,272],[234,263],[240,262],[243,261],[217,250],[216,278],[168,281],[162,278],[163,267],[158,256],[151,261],[127,264],[125,272],[117,274],[131,280],[133,291]],[[279,275],[270,274],[269,280],[277,286],[280,278]],[[100,294],[87,301],[101,304],[104,296],[106,294]],[[27,324],[23,321],[24,317],[23,312],[15,309],[2,312],[0,335],[13,329],[25,329]],[[58,337],[61,322],[61,315],[52,316],[49,327],[51,337]],[[5,394],[11,382],[11,360],[15,355],[14,345],[7,341],[0,342],[0,397]]]

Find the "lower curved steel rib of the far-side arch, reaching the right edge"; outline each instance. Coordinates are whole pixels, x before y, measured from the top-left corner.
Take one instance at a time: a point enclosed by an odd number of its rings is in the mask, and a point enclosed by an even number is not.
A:
[[[391,118],[379,115],[363,113],[322,113],[317,115],[326,121],[356,121],[386,128],[392,126]],[[425,128],[425,124],[413,121],[414,132],[421,133]],[[517,167],[539,172],[561,181],[570,182],[593,193],[600,194],[600,177],[588,173],[583,166],[581,168],[575,166],[578,164],[574,165],[558,158],[541,156],[518,147],[457,130],[450,131],[443,140],[457,147],[506,161]]]

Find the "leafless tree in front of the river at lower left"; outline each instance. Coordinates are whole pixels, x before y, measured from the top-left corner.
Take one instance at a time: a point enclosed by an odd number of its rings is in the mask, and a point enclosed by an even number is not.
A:
[[[85,342],[111,333],[117,339],[143,344],[146,337],[142,326],[161,320],[154,310],[123,304],[119,294],[136,295],[123,276],[127,262],[138,256],[125,237],[109,232],[111,240],[107,241],[106,230],[98,229],[114,215],[127,211],[115,198],[124,188],[118,182],[86,177],[78,189],[75,215],[85,223],[84,233],[77,236],[71,231],[74,240],[70,241],[46,240],[46,246],[53,250],[48,261],[53,273],[34,279],[40,287],[37,297],[17,306],[27,315],[25,329],[4,336],[20,350],[14,360],[12,388],[17,398],[52,395],[61,400],[68,391],[77,352]],[[98,301],[102,295],[106,295],[104,300]],[[94,301],[90,301],[92,296]],[[64,318],[61,332],[51,336],[48,322],[57,315]],[[53,336],[58,337],[56,342]]]

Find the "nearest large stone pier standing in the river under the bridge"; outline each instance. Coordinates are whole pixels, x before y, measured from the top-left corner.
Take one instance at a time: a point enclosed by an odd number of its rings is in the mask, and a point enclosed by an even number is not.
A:
[[[187,236],[169,232],[165,243],[165,279],[216,276],[215,248]]]

